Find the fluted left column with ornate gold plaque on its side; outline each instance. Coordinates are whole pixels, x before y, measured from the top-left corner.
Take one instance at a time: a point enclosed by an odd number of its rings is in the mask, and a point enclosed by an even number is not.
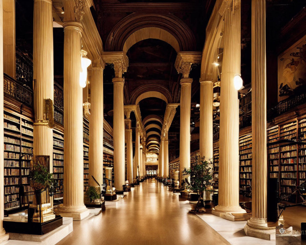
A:
[[[44,114],[44,99],[53,103],[53,17],[51,0],[34,1],[33,21],[34,114],[33,154],[50,156],[53,172],[53,130]],[[53,115],[49,115],[50,118]]]

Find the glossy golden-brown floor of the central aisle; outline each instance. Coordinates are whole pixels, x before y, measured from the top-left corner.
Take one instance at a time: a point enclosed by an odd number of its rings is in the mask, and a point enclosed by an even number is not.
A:
[[[162,184],[146,180],[98,216],[73,222],[73,232],[58,245],[229,244],[194,214],[187,201]]]

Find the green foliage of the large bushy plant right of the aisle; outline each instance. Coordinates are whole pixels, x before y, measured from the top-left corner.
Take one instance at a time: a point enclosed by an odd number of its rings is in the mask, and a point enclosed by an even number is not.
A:
[[[211,161],[205,160],[205,157],[199,158],[197,163],[191,168],[184,169],[183,175],[190,175],[190,189],[200,194],[206,190],[208,186],[211,186]]]

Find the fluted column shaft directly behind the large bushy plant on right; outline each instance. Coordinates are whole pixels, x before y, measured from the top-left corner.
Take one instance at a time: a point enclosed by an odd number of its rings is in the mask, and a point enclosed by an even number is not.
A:
[[[213,84],[200,81],[200,156],[213,157],[212,103]]]

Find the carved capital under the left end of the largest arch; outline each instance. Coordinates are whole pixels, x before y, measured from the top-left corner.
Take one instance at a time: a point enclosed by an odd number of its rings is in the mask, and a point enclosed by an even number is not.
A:
[[[115,76],[122,77],[129,66],[129,58],[126,54],[121,52],[103,52],[102,59],[105,63],[113,64],[115,69]]]

